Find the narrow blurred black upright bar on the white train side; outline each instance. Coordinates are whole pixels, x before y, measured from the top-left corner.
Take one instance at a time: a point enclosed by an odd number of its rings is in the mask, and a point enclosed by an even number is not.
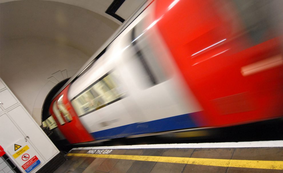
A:
[[[132,29],[131,39],[132,39],[131,44],[133,45],[133,47],[135,49],[135,52],[136,52],[137,57],[139,58],[139,61],[141,62],[142,66],[144,67],[145,72],[148,74],[152,84],[156,85],[157,84],[156,78],[152,74],[152,72],[151,72],[151,70],[148,66],[148,63],[146,62],[146,60],[144,58],[144,55],[141,53],[140,48],[137,46],[137,40],[135,40],[136,39],[136,37],[135,37],[135,27],[133,27],[133,29]]]

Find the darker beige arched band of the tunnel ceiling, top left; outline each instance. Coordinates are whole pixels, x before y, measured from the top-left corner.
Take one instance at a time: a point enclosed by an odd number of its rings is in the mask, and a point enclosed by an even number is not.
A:
[[[20,38],[46,39],[91,56],[101,40],[109,37],[101,32],[112,32],[117,27],[119,24],[98,13],[65,3],[29,0],[1,3],[2,43]]]

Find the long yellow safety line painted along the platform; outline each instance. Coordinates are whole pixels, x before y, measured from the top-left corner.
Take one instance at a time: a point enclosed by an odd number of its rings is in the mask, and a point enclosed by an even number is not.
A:
[[[132,155],[112,155],[112,154],[77,154],[69,153],[67,156],[115,158],[125,160],[140,160],[152,162],[184,163],[207,166],[239,167],[239,168],[259,168],[283,170],[283,161],[266,160],[230,160],[212,158],[188,158],[188,157],[164,157],[164,156],[132,156]]]

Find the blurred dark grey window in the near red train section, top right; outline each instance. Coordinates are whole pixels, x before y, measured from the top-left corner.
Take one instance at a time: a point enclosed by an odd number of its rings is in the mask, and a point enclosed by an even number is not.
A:
[[[278,33],[282,24],[282,10],[278,1],[233,0],[254,45],[265,42]],[[277,4],[277,5],[276,5]],[[280,5],[279,5],[280,6]]]

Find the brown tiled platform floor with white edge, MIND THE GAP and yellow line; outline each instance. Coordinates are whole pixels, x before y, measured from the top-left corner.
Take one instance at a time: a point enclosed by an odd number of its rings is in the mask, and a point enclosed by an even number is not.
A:
[[[281,172],[283,141],[268,147],[146,145],[73,148],[56,173]],[[281,146],[280,146],[281,143]],[[159,148],[165,146],[164,148]],[[239,146],[239,147],[238,147]],[[279,147],[278,147],[279,146]]]

